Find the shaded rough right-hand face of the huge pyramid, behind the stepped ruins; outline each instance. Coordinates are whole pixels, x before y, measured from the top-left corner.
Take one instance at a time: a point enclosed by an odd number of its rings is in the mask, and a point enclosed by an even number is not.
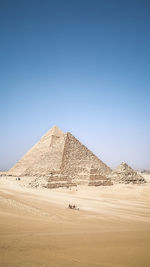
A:
[[[66,142],[61,165],[61,173],[72,177],[77,184],[89,184],[92,167],[100,170],[106,180],[110,168],[82,145],[70,133],[66,134]]]

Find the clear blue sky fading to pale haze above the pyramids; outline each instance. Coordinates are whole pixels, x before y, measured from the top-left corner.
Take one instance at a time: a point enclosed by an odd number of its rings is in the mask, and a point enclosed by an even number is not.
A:
[[[150,169],[149,0],[0,0],[0,170],[53,125]]]

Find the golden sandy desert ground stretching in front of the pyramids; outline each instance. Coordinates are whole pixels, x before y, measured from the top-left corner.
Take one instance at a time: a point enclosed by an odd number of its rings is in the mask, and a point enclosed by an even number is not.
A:
[[[48,190],[0,177],[0,266],[149,267],[146,179],[145,185]]]

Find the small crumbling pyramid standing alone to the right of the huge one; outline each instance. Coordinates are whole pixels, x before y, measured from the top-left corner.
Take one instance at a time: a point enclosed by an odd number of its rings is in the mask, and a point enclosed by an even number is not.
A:
[[[114,183],[125,184],[142,184],[146,183],[145,179],[133,170],[128,164],[122,162],[112,173],[109,175]]]

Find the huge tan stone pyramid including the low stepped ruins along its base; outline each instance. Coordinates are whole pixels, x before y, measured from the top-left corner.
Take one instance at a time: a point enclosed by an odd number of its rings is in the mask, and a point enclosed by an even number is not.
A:
[[[54,126],[35,144],[9,173],[35,177],[33,185],[69,187],[111,185],[111,169],[71,133]]]

